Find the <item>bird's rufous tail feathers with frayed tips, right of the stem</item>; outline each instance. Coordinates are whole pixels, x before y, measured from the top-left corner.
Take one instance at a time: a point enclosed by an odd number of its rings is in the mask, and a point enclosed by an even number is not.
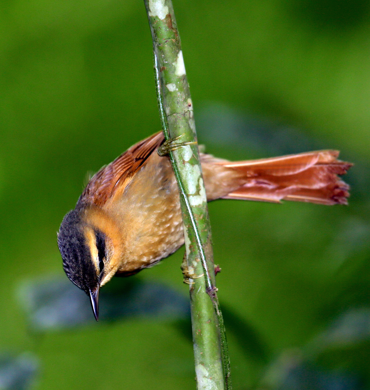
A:
[[[217,161],[245,178],[224,199],[280,202],[296,200],[318,204],[347,204],[349,186],[340,180],[352,166],[337,160],[338,151],[323,150],[249,161]]]

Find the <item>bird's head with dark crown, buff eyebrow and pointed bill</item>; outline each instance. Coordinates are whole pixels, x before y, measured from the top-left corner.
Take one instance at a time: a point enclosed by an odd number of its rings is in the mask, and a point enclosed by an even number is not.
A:
[[[104,218],[96,214],[82,207],[67,213],[58,232],[58,246],[67,277],[90,297],[98,320],[100,286],[113,277],[117,267],[112,262],[115,245],[109,223],[101,223]]]

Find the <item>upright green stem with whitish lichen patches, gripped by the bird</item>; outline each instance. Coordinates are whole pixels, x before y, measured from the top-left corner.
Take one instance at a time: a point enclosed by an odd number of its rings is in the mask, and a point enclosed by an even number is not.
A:
[[[144,0],[153,38],[158,106],[166,139],[196,141],[193,105],[171,0]],[[179,141],[179,142],[180,142]],[[190,274],[190,306],[197,388],[231,389],[224,321],[215,271],[201,164],[197,145],[169,152],[180,192],[185,253]]]

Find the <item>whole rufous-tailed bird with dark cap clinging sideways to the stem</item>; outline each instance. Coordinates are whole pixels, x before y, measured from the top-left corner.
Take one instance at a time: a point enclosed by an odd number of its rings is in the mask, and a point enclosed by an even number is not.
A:
[[[151,267],[184,244],[179,191],[166,152],[189,143],[175,141],[159,132],[131,146],[90,179],[63,218],[57,234],[63,268],[90,297],[96,320],[102,285],[114,275]],[[349,186],[338,175],[352,164],[337,160],[335,150],[234,162],[199,156],[208,202],[347,204]]]

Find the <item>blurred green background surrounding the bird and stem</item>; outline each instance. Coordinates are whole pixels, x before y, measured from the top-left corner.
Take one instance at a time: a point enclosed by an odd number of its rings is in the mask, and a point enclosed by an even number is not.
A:
[[[219,298],[253,330],[247,348],[229,334],[234,388],[248,389],[266,363],[370,305],[370,4],[174,0],[174,9],[196,119],[221,103],[299,129],[356,163],[349,206],[210,204]],[[143,2],[4,0],[0,14],[1,350],[39,357],[40,390],[195,388],[192,345],[166,321],[34,335],[16,298],[24,280],[63,275],[56,231],[86,172],[160,129]],[[255,157],[242,149],[214,140],[207,151]],[[139,277],[186,295],[182,255]],[[316,360],[369,382],[367,339]]]

